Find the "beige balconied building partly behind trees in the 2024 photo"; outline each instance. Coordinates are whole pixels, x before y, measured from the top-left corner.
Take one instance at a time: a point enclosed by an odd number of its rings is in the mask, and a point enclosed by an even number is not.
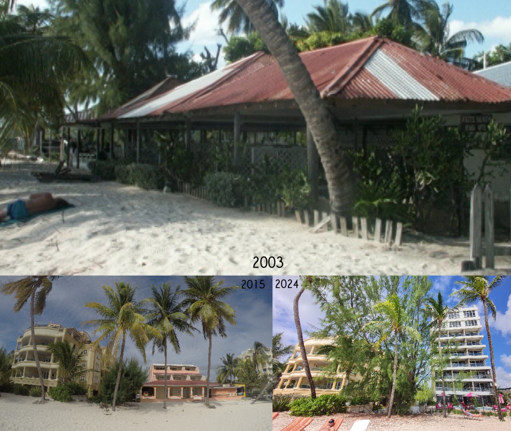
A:
[[[330,365],[330,359],[325,355],[320,355],[317,350],[324,345],[332,344],[333,338],[307,338],[304,341],[307,359],[309,360],[309,368],[312,378],[316,385],[316,395],[336,394],[342,391],[348,377],[339,368],[333,376],[326,376],[326,367]],[[294,348],[291,358],[277,387],[273,390],[273,394],[278,395],[300,395],[310,396],[311,389],[304,370],[304,360],[301,357],[300,346],[297,344]]]

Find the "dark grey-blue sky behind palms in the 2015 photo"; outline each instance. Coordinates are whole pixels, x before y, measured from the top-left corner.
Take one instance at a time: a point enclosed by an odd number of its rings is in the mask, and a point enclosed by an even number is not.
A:
[[[0,285],[18,280],[20,277],[0,277]],[[215,281],[224,280],[224,286],[239,286],[247,277],[217,277]],[[266,281],[265,289],[238,289],[225,300],[237,311],[237,325],[227,325],[227,337],[214,337],[212,343],[212,376],[220,358],[226,353],[241,354],[250,348],[254,341],[265,346],[271,346],[271,278],[258,277]],[[106,304],[106,297],[102,285],[115,287],[115,282],[130,283],[138,286],[135,298],[142,300],[151,296],[151,284],[160,286],[170,282],[172,287],[186,288],[182,277],[92,277],[71,276],[62,277],[53,283],[53,289],[48,297],[47,306],[42,315],[36,316],[37,324],[59,323],[62,326],[73,326],[88,332],[93,340],[97,336],[92,332],[95,327],[83,326],[86,320],[97,319],[94,310],[86,308],[87,302],[100,302]],[[14,296],[5,296],[0,293],[0,347],[11,351],[16,347],[16,338],[30,327],[30,310],[28,304],[18,313],[13,311]],[[191,337],[179,335],[181,353],[177,355],[169,349],[169,363],[193,364],[199,366],[205,375],[207,372],[207,341],[200,333]],[[146,348],[147,364],[163,363],[163,354],[151,354],[152,344]],[[126,346],[126,355],[135,356],[142,360],[142,356],[129,341]]]

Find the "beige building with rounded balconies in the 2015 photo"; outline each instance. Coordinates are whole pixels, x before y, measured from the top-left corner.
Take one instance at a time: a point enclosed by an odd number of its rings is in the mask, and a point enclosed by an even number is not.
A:
[[[44,385],[56,386],[59,380],[59,366],[54,355],[48,351],[50,343],[58,341],[71,343],[76,347],[82,345],[82,368],[86,370],[78,381],[86,385],[88,395],[97,395],[101,384],[101,375],[106,355],[106,347],[95,346],[85,331],[76,328],[64,328],[58,323],[35,326],[37,354],[42,369]],[[13,383],[39,385],[39,374],[34,359],[32,335],[27,329],[16,342],[12,364]]]

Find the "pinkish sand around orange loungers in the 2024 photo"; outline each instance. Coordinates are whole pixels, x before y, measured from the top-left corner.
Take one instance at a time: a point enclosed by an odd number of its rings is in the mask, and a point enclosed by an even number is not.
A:
[[[343,414],[332,415],[332,417],[342,416],[344,420],[339,431],[349,431],[353,423],[359,419],[369,419],[368,431],[437,431],[437,430],[458,430],[463,431],[480,431],[481,429],[491,429],[492,431],[509,430],[511,419],[505,418],[504,422],[500,422],[497,417],[484,417],[481,419],[463,419],[460,415],[449,414],[447,419],[442,414],[409,415],[409,416],[392,416],[390,419],[384,414]],[[289,416],[288,412],[280,413],[273,420],[273,431],[280,431],[286,425],[295,419]],[[305,431],[317,431],[329,419],[327,416],[317,416],[305,428]]]

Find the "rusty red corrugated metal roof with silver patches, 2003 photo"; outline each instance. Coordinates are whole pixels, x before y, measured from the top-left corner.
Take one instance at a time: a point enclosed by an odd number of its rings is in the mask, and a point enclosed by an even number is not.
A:
[[[511,88],[379,37],[301,53],[300,57],[324,98],[511,102]],[[225,69],[207,86],[178,99],[170,97],[168,104],[156,103],[157,108],[146,110],[144,116],[292,99],[270,55],[252,55]],[[193,82],[184,85],[194,88]],[[129,108],[126,112],[130,117]]]

